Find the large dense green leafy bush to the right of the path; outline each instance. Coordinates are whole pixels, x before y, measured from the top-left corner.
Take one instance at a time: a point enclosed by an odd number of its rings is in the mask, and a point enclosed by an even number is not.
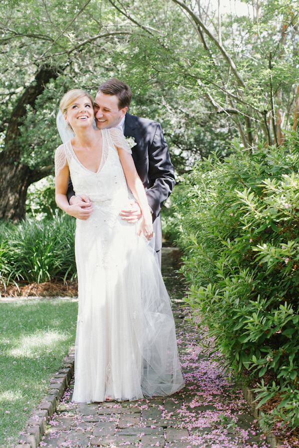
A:
[[[231,368],[258,378],[264,423],[299,425],[299,140],[205,159],[172,202],[179,222],[188,303],[206,343]]]

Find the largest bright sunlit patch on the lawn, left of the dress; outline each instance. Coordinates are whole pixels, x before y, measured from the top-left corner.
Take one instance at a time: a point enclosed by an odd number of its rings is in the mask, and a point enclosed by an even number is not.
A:
[[[35,358],[41,353],[54,352],[60,342],[67,341],[70,333],[53,330],[37,330],[33,334],[21,336],[15,342],[15,348],[7,351],[7,354],[14,357]]]

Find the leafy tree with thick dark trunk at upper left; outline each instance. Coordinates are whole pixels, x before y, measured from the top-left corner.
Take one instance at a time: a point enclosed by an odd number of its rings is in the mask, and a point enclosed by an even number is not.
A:
[[[93,75],[107,72],[104,42],[109,47],[128,31],[117,24],[112,29],[109,14],[104,23],[91,0],[6,0],[0,11],[0,219],[17,220],[25,214],[28,186],[51,172],[60,143],[40,129],[41,111],[47,109],[54,128],[58,98],[70,87],[92,88]]]

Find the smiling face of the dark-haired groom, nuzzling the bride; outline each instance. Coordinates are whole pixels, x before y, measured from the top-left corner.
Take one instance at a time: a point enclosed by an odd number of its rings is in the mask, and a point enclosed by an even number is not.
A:
[[[115,128],[126,115],[128,108],[119,109],[116,95],[98,92],[95,98],[94,114],[99,129]]]

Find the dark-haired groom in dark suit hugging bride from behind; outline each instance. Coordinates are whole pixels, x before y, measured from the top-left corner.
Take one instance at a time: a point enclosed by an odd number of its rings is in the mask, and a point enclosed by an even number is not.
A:
[[[174,186],[174,168],[170,161],[167,144],[161,125],[152,120],[128,114],[132,92],[127,84],[112,78],[99,87],[95,98],[94,114],[98,129],[118,128],[125,137],[132,137],[135,145],[132,156],[137,172],[144,184],[151,209],[155,234],[155,251],[161,265],[162,230],[160,210]],[[133,144],[134,144],[133,143]],[[73,197],[72,186],[68,189],[71,205],[77,204],[87,219],[92,206],[86,196]],[[120,215],[128,222],[136,222],[141,217],[137,202],[124,206]],[[78,216],[79,217],[79,216]]]

